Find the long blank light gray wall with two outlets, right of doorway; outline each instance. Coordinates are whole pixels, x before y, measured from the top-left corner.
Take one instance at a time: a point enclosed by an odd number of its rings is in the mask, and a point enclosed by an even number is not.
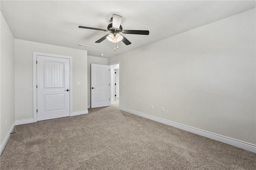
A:
[[[255,29],[254,8],[109,58],[121,109],[255,145]]]

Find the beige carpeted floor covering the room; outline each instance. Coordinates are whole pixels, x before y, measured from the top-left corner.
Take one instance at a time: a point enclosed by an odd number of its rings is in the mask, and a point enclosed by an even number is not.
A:
[[[255,170],[256,153],[118,110],[17,125],[1,170]]]

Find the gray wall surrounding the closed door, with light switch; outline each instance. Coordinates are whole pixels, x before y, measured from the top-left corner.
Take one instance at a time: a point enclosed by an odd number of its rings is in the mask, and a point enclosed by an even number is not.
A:
[[[15,119],[33,118],[33,51],[73,57],[73,112],[87,110],[87,51],[15,39]]]

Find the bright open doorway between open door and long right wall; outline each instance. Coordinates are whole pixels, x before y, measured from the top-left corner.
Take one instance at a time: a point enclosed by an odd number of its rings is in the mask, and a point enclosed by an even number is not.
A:
[[[111,68],[110,76],[110,94],[111,94],[111,105],[120,106],[120,64],[119,61],[116,63],[109,64]]]

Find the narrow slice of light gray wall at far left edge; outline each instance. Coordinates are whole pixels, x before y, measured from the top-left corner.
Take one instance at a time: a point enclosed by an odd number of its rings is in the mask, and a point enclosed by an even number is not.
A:
[[[12,125],[14,116],[14,37],[1,12],[1,58],[0,58],[0,145]],[[7,124],[6,121],[7,120]]]

